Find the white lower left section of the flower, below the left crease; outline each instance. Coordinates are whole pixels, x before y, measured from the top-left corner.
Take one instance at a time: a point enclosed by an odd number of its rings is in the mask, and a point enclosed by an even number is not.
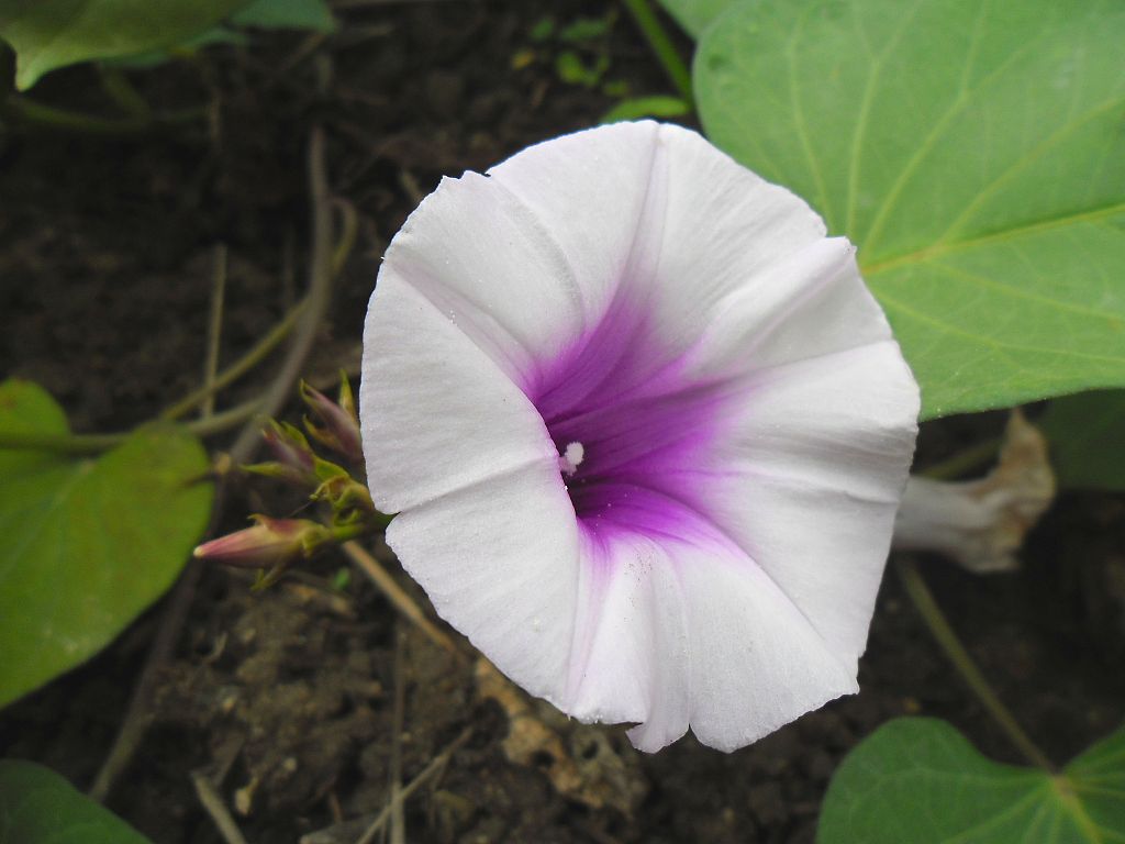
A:
[[[562,704],[578,535],[554,465],[518,468],[402,513],[387,542],[443,619],[529,692]]]

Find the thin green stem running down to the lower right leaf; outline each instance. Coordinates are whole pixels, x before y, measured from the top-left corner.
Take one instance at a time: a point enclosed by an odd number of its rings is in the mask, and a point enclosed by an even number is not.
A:
[[[988,710],[988,713],[992,716],[997,726],[1004,730],[1008,740],[1019,749],[1024,758],[1036,767],[1041,767],[1054,775],[1056,770],[1051,760],[1024,733],[1023,727],[1016,721],[1015,716],[1004,704],[997,693],[992,691],[992,686],[988,684],[981,670],[976,667],[976,663],[973,662],[965,646],[961,644],[961,639],[953,631],[948,620],[945,618],[945,613],[937,605],[934,594],[929,591],[929,586],[926,585],[926,581],[918,571],[918,564],[907,557],[900,559],[896,567],[899,576],[902,578],[902,585],[906,587],[907,594],[914,602],[915,608],[917,608],[922,621],[926,622],[926,627],[929,628],[934,639],[940,646],[942,650],[945,652],[948,661],[953,663],[953,667],[961,674],[962,680],[973,691],[973,694],[976,695],[976,699]]]

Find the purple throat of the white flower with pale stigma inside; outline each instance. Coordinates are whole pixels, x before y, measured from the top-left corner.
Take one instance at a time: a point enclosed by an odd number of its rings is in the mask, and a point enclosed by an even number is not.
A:
[[[686,539],[710,524],[704,458],[718,385],[685,376],[646,308],[616,303],[529,393],[584,530]]]

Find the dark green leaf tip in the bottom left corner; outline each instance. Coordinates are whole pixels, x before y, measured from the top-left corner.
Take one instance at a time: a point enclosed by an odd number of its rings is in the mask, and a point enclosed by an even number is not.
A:
[[[0,760],[0,844],[151,844],[54,771]]]

